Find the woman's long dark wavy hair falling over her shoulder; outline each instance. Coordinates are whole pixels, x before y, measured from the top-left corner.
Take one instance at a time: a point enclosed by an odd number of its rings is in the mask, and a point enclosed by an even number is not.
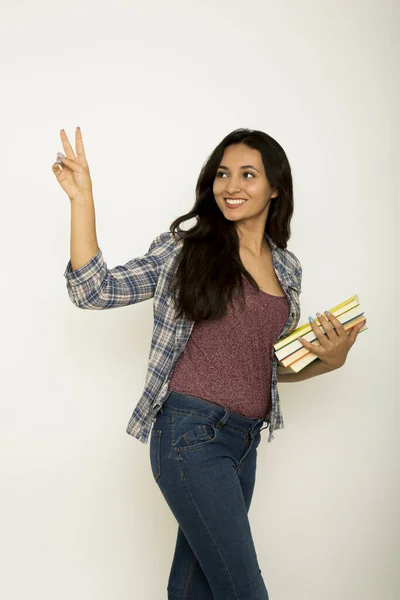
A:
[[[203,165],[192,210],[175,219],[169,228],[175,242],[183,239],[170,282],[176,319],[183,315],[194,321],[214,320],[224,316],[235,291],[240,290],[242,302],[244,301],[242,275],[259,289],[240,260],[235,223],[224,217],[213,193],[214,179],[224,150],[237,143],[260,151],[268,182],[272,189],[279,192],[277,198],[271,199],[265,234],[280,248],[286,248],[290,238],[293,183],[285,151],[263,131],[232,131],[218,144]],[[193,217],[197,219],[196,224],[187,231],[181,230],[179,225]]]

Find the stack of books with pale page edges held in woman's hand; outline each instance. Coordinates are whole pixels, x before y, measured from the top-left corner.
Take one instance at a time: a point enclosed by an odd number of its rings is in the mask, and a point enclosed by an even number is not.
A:
[[[334,306],[328,312],[342,323],[347,332],[366,318],[357,295],[351,296],[351,298]],[[322,316],[321,318],[324,319],[325,317]],[[319,327],[320,331],[326,335],[325,330],[318,319],[315,319],[315,324]],[[368,329],[368,327],[364,325],[359,333],[366,329]],[[295,329],[293,333],[274,344],[275,356],[278,359],[279,373],[298,373],[301,369],[304,369],[304,367],[318,358],[316,354],[310,352],[303,346],[299,341],[299,337],[304,338],[307,342],[315,344],[316,346],[320,345],[310,323],[306,323]]]

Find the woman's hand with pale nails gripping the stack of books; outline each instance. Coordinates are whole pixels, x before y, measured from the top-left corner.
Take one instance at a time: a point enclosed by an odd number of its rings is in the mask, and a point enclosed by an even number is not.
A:
[[[318,320],[326,335],[322,333],[314,320],[311,322],[318,345],[315,342],[311,344],[303,338],[299,338],[299,341],[307,350],[316,354],[333,371],[344,365],[347,354],[357,339],[358,332],[364,327],[367,321],[366,319],[361,321],[361,323],[350,329],[350,333],[347,333],[339,319],[328,312],[325,312],[324,316],[317,313]]]

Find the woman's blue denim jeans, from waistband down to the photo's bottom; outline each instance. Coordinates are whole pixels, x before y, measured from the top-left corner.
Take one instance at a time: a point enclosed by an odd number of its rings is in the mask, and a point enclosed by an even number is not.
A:
[[[169,390],[150,438],[179,525],[169,600],[268,600],[248,519],[262,424]]]

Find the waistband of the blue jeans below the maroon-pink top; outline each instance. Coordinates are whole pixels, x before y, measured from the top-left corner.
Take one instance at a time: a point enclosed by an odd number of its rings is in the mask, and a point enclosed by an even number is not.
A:
[[[169,390],[166,399],[160,409],[173,412],[175,410],[193,410],[196,413],[204,414],[206,417],[212,417],[219,421],[219,426],[223,427],[229,423],[229,426],[257,434],[261,430],[264,423],[263,419],[245,417],[234,411],[225,408],[221,404],[215,404],[209,400],[196,398],[195,396],[187,396],[174,390]],[[266,429],[265,427],[264,429]]]

